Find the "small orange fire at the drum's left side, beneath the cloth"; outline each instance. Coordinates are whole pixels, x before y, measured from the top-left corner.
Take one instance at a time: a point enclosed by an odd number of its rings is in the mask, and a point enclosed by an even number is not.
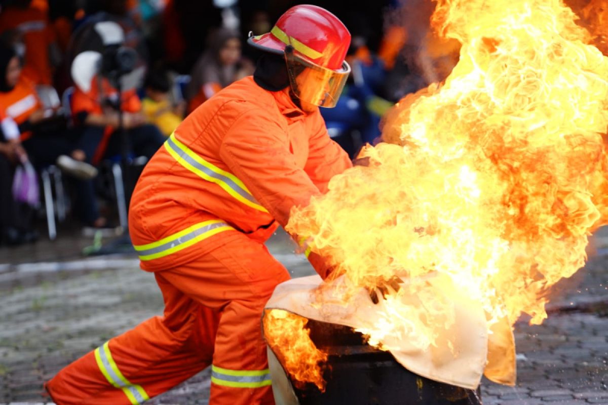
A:
[[[306,328],[308,319],[283,310],[264,312],[264,336],[272,351],[281,360],[295,386],[313,383],[325,392],[322,364],[327,354],[314,345]]]

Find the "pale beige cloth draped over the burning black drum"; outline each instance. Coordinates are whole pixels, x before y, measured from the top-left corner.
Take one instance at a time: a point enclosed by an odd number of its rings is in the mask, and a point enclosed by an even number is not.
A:
[[[339,285],[344,280],[338,279],[334,283],[336,282]],[[319,276],[283,282],[275,289],[266,308],[283,309],[305,318],[347,325],[359,330],[373,328],[385,313],[384,300],[373,304],[365,290],[344,302],[343,298],[335,298],[330,290],[317,288],[321,284]],[[446,311],[453,314],[454,322],[440,330],[435,344],[426,349],[413,344],[412,339],[394,335],[384,336],[381,339],[382,345],[389,348],[390,353],[406,369],[441,383],[476,389],[486,370],[486,376],[492,381],[514,385],[515,344],[508,322],[492,325],[492,333],[488,333],[488,322],[482,307],[460,293],[448,277],[426,277],[424,286],[424,296],[443,298],[437,302],[447,303]],[[414,296],[406,294],[402,299],[407,304],[420,305]],[[433,303],[434,309],[437,309],[437,302]]]

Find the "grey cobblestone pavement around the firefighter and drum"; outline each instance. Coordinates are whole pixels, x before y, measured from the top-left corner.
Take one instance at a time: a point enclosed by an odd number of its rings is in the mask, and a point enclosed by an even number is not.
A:
[[[154,277],[134,256],[83,259],[89,243],[72,234],[0,249],[0,404],[48,403],[43,381],[161,313]],[[284,235],[269,248],[292,276],[313,273]],[[608,230],[595,248],[586,267],[558,285],[544,324],[516,324],[517,386],[483,381],[485,405],[608,404]],[[207,404],[208,396],[206,370],[149,403]]]

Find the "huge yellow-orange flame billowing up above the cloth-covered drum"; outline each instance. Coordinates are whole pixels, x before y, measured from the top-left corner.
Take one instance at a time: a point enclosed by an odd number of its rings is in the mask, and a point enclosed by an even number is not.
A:
[[[608,58],[575,22],[559,0],[438,0],[432,23],[462,44],[457,66],[401,100],[385,143],[362,152],[369,166],[295,208],[288,231],[309,236],[353,293],[436,272],[489,325],[522,313],[541,323],[548,288],[584,265],[608,218]],[[364,332],[434,344],[434,298],[416,308],[399,294]]]

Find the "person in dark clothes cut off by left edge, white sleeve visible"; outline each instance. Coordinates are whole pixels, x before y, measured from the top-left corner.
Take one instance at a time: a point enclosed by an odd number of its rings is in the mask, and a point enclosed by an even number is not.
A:
[[[0,245],[35,242],[38,235],[30,229],[32,216],[13,197],[15,167],[27,162],[27,153],[19,142],[19,129],[15,121],[4,117],[0,125]]]

